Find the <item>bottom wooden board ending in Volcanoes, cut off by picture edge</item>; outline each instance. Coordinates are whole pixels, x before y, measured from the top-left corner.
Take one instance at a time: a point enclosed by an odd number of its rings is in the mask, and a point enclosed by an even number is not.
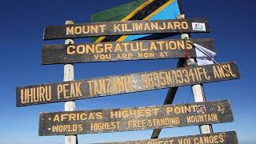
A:
[[[159,138],[126,142],[104,142],[98,144],[238,144],[238,136],[235,131],[197,134],[174,138]]]

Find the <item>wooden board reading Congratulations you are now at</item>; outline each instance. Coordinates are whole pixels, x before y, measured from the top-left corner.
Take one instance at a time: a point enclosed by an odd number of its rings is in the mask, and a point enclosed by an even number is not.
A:
[[[78,45],[46,45],[42,48],[42,64],[108,62],[138,59],[195,58],[193,43],[214,49],[214,40],[167,39],[156,41],[102,42]]]

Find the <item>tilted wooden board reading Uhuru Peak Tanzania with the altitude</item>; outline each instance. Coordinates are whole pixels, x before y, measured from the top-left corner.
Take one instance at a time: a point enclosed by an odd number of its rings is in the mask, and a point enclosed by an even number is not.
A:
[[[88,78],[17,88],[17,106],[156,90],[240,78],[234,62]]]

